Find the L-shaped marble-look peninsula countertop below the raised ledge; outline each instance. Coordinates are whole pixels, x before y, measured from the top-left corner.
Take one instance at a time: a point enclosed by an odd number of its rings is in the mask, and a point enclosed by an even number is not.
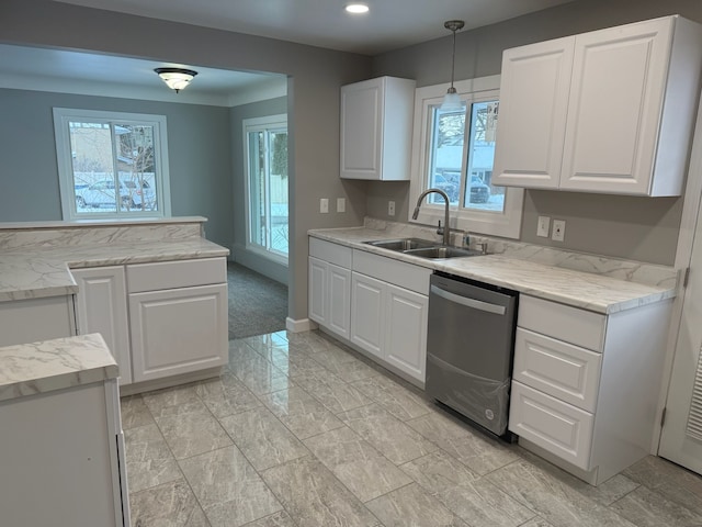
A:
[[[151,261],[214,258],[229,249],[205,238],[168,242],[78,244],[0,253],[0,302],[60,296],[78,292],[70,269]]]

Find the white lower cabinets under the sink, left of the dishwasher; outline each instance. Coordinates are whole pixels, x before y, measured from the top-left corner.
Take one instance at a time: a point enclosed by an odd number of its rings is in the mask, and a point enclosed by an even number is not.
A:
[[[431,270],[309,238],[309,318],[423,384]]]

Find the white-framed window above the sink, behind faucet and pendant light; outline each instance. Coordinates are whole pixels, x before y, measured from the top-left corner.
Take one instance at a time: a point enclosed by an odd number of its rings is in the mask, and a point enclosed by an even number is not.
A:
[[[464,108],[443,111],[445,86],[417,89],[410,211],[429,188],[443,190],[451,205],[451,227],[519,238],[523,190],[492,184],[499,113],[499,77],[455,82]],[[437,225],[444,201],[427,195],[418,222]],[[411,222],[410,217],[410,222]]]

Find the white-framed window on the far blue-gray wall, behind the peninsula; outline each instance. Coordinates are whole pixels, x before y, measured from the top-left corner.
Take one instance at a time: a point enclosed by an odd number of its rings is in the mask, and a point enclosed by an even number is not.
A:
[[[168,216],[166,117],[54,109],[65,220]]]

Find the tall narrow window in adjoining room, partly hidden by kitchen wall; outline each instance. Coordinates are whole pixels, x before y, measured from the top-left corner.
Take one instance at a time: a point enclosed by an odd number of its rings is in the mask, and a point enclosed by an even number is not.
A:
[[[287,116],[244,121],[247,248],[287,262]]]

